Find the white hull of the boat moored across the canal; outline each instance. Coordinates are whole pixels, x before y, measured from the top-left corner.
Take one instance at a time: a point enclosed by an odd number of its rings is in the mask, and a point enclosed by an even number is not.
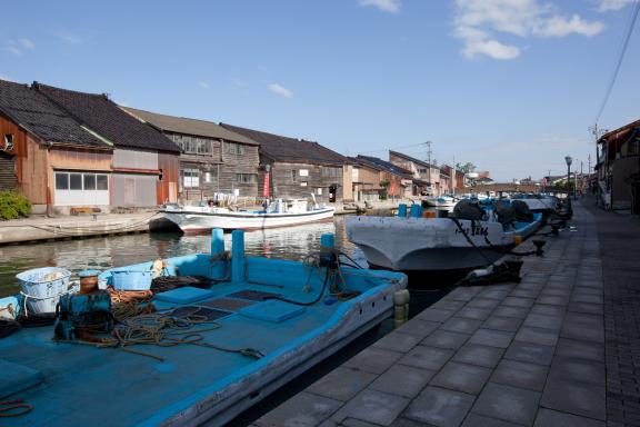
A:
[[[162,211],[164,218],[176,224],[183,232],[203,232],[213,228],[226,230],[260,230],[289,227],[301,224],[331,220],[333,208],[322,208],[303,214],[256,214],[256,212],[179,212]]]

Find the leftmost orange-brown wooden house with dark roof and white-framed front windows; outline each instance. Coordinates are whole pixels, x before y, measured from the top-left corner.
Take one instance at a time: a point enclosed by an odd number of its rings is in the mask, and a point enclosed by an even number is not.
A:
[[[0,190],[34,214],[110,205],[113,147],[26,85],[0,80]]]

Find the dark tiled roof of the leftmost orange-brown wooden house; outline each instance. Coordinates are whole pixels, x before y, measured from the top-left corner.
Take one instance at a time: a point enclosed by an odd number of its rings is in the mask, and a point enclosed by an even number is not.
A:
[[[26,85],[0,80],[0,110],[29,132],[52,143],[109,148],[80,125]]]

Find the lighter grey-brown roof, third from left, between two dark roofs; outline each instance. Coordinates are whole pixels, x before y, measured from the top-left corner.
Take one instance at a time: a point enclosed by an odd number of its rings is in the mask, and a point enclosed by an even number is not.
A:
[[[131,115],[138,117],[139,119],[142,119],[167,132],[223,139],[226,141],[258,146],[258,142],[240,133],[236,133],[228,129],[224,129],[220,125],[217,125],[212,121],[159,115],[157,112],[138,110],[136,108],[129,108],[129,107],[120,107],[120,108],[122,108],[126,111],[129,111]]]

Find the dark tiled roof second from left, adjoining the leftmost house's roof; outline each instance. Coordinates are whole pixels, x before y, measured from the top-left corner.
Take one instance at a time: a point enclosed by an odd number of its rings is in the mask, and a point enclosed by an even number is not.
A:
[[[162,132],[122,111],[104,95],[76,92],[39,83],[33,83],[33,87],[76,120],[109,138],[116,147],[180,152],[178,146]]]

